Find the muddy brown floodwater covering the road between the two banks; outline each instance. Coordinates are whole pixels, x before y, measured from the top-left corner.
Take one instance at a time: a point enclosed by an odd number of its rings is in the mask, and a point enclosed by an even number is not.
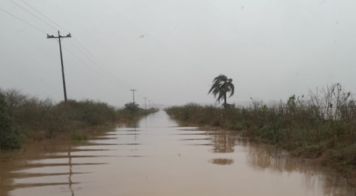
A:
[[[234,131],[179,127],[163,111],[120,127],[3,152],[0,195],[356,195],[335,172],[271,156]]]

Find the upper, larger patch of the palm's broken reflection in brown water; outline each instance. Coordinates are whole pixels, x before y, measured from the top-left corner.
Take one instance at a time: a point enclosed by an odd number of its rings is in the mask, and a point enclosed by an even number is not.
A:
[[[235,151],[235,137],[229,135],[227,132],[218,132],[214,135],[214,152],[216,153],[230,153]]]

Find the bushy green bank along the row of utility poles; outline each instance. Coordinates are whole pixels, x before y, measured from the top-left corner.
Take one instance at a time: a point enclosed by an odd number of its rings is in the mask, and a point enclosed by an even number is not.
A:
[[[108,103],[89,99],[56,103],[14,89],[0,89],[0,147],[18,149],[23,142],[53,139],[58,135],[85,139],[85,135],[78,135],[75,131],[123,119],[126,122],[156,112],[155,108],[144,110],[138,105],[130,106],[128,103],[117,109]]]

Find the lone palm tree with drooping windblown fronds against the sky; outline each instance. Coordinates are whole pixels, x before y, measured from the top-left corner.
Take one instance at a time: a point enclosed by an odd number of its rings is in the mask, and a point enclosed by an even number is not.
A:
[[[209,90],[209,93],[212,93],[214,95],[214,98],[216,98],[216,95],[219,94],[218,99],[216,101],[219,102],[220,100],[224,99],[224,105],[226,105],[226,94],[230,92],[230,96],[234,95],[235,91],[235,86],[232,84],[232,79],[228,79],[226,75],[220,74],[218,77],[214,78],[213,80],[213,85],[211,85],[211,89]]]

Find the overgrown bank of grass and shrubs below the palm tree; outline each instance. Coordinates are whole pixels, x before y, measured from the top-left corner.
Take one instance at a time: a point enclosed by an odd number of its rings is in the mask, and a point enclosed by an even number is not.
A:
[[[323,166],[344,172],[356,169],[356,99],[340,84],[269,105],[258,99],[246,107],[190,103],[166,112],[180,121],[241,130],[253,140],[313,158]]]

